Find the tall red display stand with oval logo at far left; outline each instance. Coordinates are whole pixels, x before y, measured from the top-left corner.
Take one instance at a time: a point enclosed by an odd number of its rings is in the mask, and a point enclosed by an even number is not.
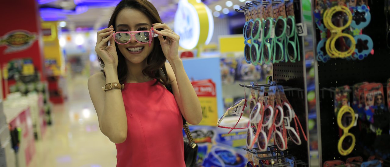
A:
[[[16,7],[16,8],[15,8]],[[30,58],[32,63],[23,71],[37,72],[41,80],[46,80],[43,72],[43,53],[41,26],[36,0],[4,1],[0,5],[0,15],[4,26],[0,27],[0,67],[4,70],[7,63],[13,59]],[[7,71],[5,71],[7,74]],[[6,77],[6,76],[3,76]],[[13,79],[8,81],[11,86]],[[4,79],[2,79],[3,94],[6,97]]]

